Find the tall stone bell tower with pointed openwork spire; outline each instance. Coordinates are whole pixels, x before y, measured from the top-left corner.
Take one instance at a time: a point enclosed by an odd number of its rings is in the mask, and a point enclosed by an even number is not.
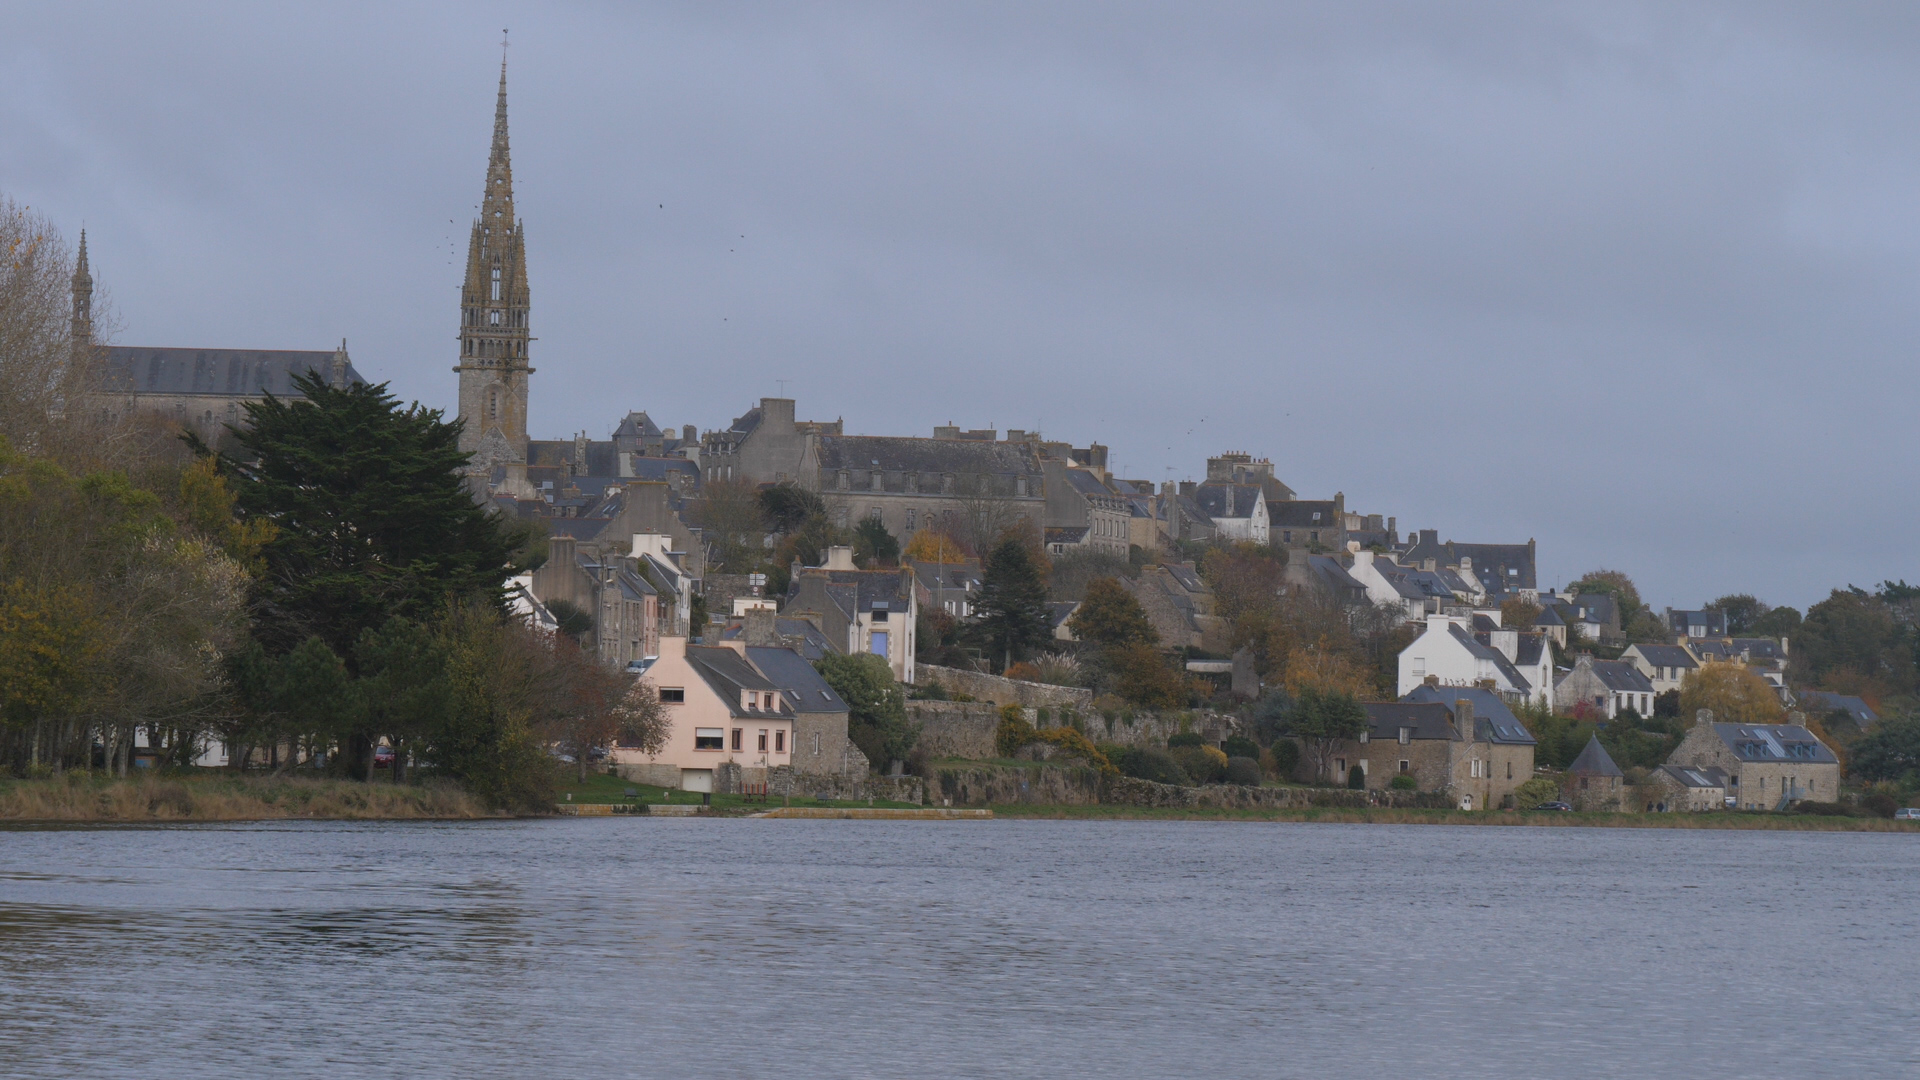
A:
[[[486,163],[486,198],[467,242],[461,284],[461,450],[472,473],[526,465],[526,236],[513,215],[513,163],[507,158],[507,58],[499,61],[493,106],[493,150]]]

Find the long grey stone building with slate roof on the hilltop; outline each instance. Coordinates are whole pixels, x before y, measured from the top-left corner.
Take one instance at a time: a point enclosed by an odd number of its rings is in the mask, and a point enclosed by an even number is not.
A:
[[[927,525],[991,542],[1025,521],[1046,519],[1046,471],[1033,442],[812,438],[803,484],[820,492],[839,527],[879,521],[902,542]]]

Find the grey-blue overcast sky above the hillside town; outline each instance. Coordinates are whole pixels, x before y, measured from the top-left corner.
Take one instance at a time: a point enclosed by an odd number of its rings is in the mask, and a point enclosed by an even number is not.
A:
[[[534,436],[1039,427],[1655,605],[1920,578],[1912,4],[0,4],[117,344],[455,402],[511,27]]]

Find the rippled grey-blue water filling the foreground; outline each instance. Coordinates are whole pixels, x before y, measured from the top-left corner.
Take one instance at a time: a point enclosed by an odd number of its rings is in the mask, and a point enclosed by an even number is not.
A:
[[[1914,1076],[1920,836],[0,830],[0,1076]]]

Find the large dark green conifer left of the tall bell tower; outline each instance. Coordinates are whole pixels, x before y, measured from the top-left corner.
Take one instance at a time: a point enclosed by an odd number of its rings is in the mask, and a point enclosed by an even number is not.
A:
[[[424,621],[449,601],[499,605],[518,567],[516,534],[461,480],[459,423],[401,405],[386,384],[246,405],[228,457],[236,509],[271,521],[253,582],[255,632],[273,651],[319,636],[351,655],[394,615]]]

